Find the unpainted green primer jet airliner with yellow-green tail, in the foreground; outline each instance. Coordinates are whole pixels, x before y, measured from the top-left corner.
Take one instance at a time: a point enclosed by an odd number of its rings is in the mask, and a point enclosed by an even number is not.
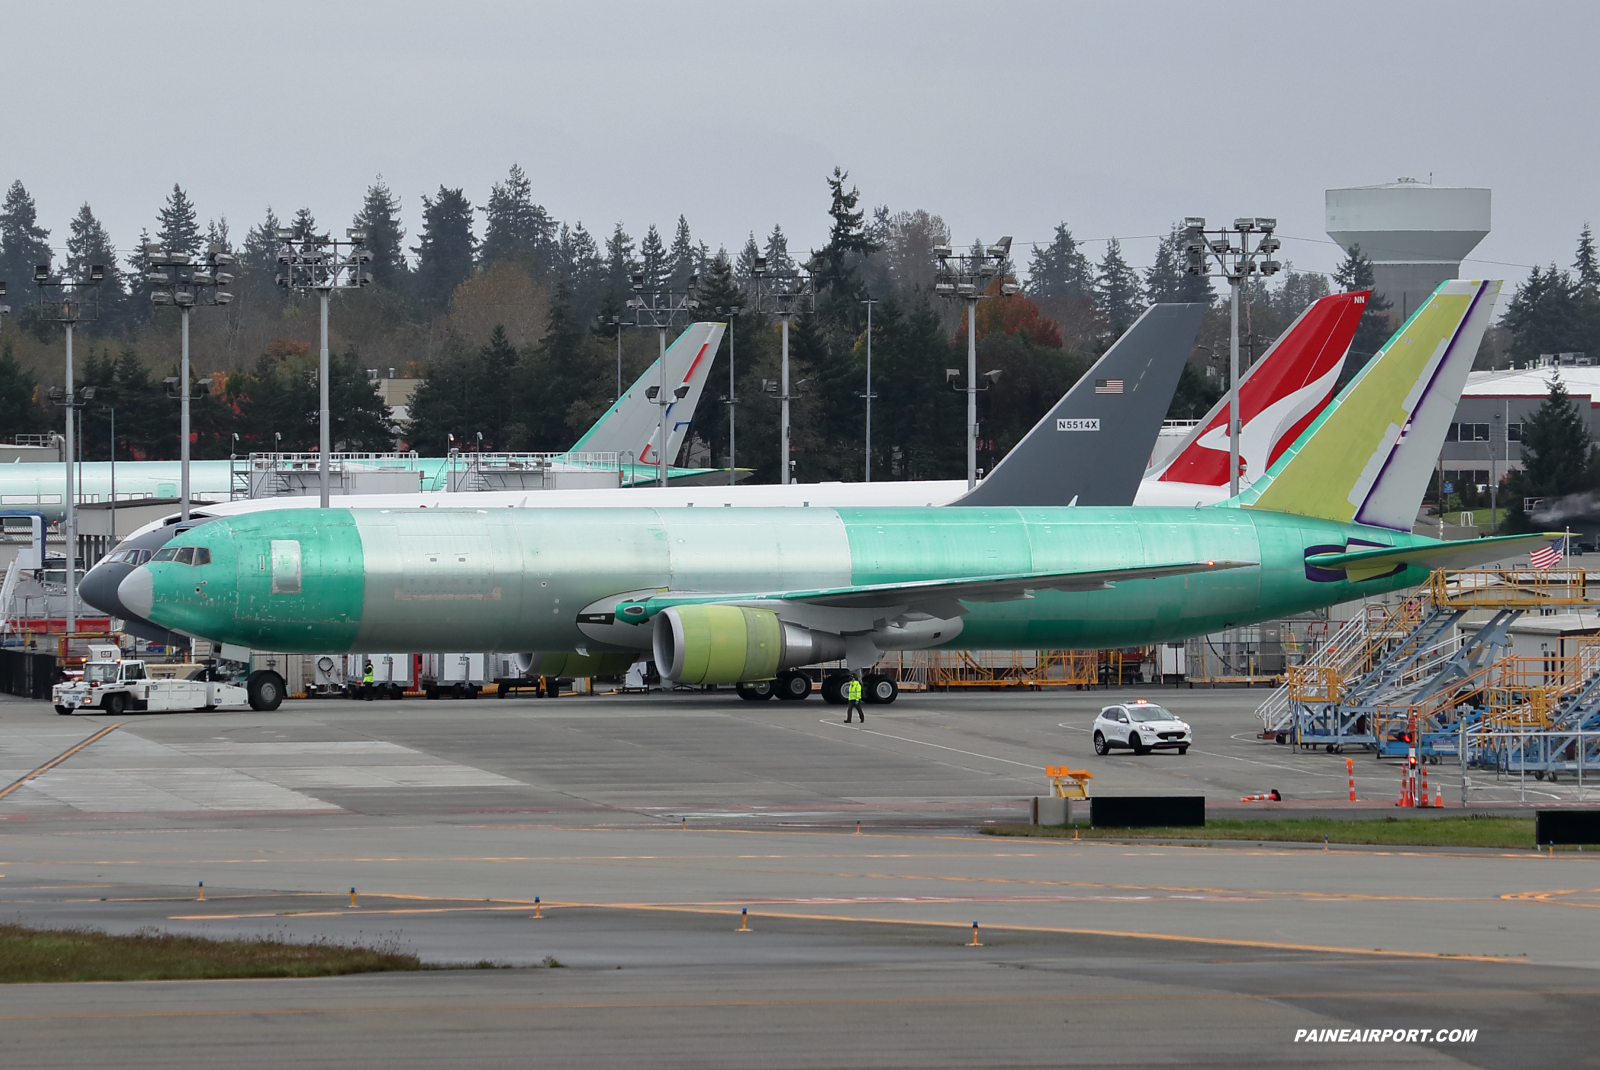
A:
[[[653,651],[685,683],[782,686],[795,667],[864,670],[891,649],[1203,635],[1541,537],[1411,534],[1498,291],[1440,285],[1224,505],[262,512],[179,534],[118,593],[226,654]],[[258,709],[282,691],[251,675]]]

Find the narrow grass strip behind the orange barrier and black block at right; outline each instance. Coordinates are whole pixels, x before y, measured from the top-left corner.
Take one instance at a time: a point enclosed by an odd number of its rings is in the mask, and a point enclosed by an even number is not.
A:
[[[984,825],[990,836],[1070,840],[1072,825]],[[1080,828],[1083,840],[1264,840],[1410,848],[1531,848],[1533,817],[1219,817],[1203,828]]]

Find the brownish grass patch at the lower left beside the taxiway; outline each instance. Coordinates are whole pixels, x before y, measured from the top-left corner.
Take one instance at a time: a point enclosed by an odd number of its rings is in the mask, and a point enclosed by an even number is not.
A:
[[[208,977],[331,977],[422,969],[398,947],[350,947],[328,940],[291,944],[267,936],[211,940],[142,931],[27,929],[0,924],[0,982],[198,980]]]

